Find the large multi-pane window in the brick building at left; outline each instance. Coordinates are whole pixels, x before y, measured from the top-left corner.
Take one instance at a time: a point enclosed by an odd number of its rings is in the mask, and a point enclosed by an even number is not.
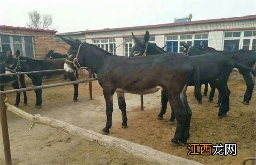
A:
[[[0,36],[2,52],[6,53],[10,48],[12,52],[20,50],[21,56],[34,58],[34,44],[31,36]]]

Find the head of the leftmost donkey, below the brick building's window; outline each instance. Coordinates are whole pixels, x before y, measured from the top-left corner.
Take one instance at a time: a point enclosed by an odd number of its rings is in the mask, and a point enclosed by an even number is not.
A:
[[[13,56],[8,55],[5,60],[5,73],[10,72],[19,72],[20,71],[20,62],[19,57],[20,56],[20,50],[17,50],[16,53]]]

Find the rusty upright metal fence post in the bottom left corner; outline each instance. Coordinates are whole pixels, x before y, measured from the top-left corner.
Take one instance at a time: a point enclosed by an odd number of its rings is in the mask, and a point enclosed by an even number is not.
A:
[[[0,118],[1,118],[1,127],[2,127],[2,136],[4,144],[4,153],[5,153],[5,164],[11,165],[11,148],[8,132],[8,123],[6,117],[6,106],[4,103],[3,95],[0,95]]]

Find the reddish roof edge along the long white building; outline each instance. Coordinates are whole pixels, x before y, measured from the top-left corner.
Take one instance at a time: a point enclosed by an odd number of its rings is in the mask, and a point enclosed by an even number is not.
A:
[[[94,33],[94,32],[124,31],[124,30],[134,30],[134,29],[149,29],[149,28],[159,28],[159,27],[171,27],[171,26],[180,26],[180,25],[216,23],[216,22],[252,20],[252,19],[256,19],[256,15],[248,15],[248,16],[242,16],[242,17],[229,17],[229,18],[221,18],[221,19],[198,20],[198,21],[189,21],[189,22],[180,22],[180,23],[167,23],[167,24],[146,25],[146,26],[133,26],[133,27],[122,27],[122,28],[106,28],[106,29],[100,29],[100,30],[65,32],[65,33],[59,33],[58,35],[87,34],[87,33]]]

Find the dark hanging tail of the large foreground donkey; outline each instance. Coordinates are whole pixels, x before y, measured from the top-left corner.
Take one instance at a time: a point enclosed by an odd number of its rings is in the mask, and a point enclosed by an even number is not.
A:
[[[194,96],[198,100],[198,104],[202,104],[201,84],[200,84],[200,71],[196,64],[193,73],[194,78]]]

